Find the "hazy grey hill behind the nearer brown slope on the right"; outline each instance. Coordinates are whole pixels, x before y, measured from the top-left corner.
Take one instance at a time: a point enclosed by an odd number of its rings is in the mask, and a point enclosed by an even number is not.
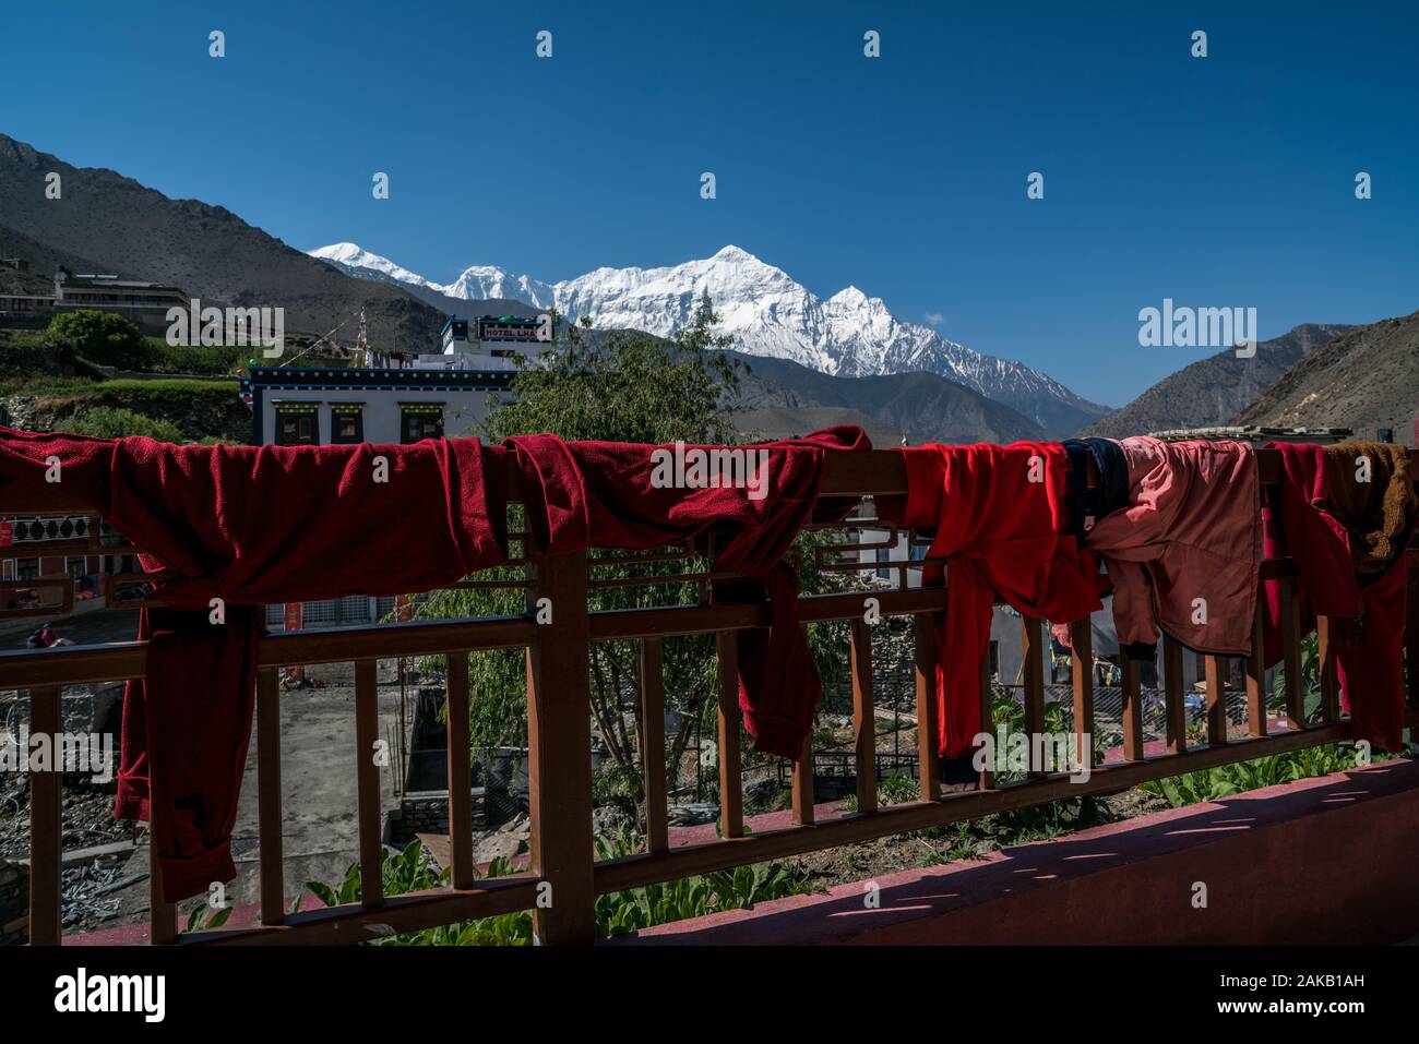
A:
[[[1239,359],[1232,349],[1199,359],[1164,377],[1122,409],[1086,426],[1080,434],[1124,438],[1227,424],[1307,352],[1348,329],[1335,323],[1305,323],[1263,340],[1250,359]]]

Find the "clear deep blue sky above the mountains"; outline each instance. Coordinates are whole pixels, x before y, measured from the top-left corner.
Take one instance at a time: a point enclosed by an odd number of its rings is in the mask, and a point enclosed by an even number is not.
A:
[[[1413,4],[667,7],[11,6],[0,130],[443,281],[734,243],[1111,404],[1202,355],[1138,346],[1165,296],[1263,339],[1419,309]]]

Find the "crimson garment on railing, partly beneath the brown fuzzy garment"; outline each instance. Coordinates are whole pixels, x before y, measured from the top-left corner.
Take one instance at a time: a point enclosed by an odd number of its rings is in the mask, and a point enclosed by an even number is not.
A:
[[[1347,519],[1327,489],[1325,447],[1269,443],[1281,457],[1279,504],[1263,509],[1266,557],[1291,557],[1297,573],[1300,631],[1315,617],[1334,623],[1341,711],[1355,739],[1382,750],[1403,745],[1405,687],[1401,651],[1405,630],[1405,560],[1361,579],[1355,573]],[[1405,479],[1406,481],[1406,479]],[[1281,582],[1266,582],[1266,664],[1283,657]]]

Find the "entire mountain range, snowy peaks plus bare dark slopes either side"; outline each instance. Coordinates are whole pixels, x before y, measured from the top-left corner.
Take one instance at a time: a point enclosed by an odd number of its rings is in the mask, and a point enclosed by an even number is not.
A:
[[[58,173],[62,194],[45,197]],[[823,418],[871,418],[880,438],[995,441],[1127,435],[1226,423],[1345,426],[1408,440],[1419,414],[1419,313],[1366,326],[1297,326],[1253,359],[1222,352],[1110,413],[1046,374],[893,316],[849,287],[819,298],[738,247],[667,268],[599,268],[546,284],[490,265],[441,285],[353,244],[292,250],[223,207],[172,200],[112,170],[74,167],[0,135],[0,291],[45,294],[55,267],[179,285],[207,304],[281,305],[287,331],[429,350],[447,315],[558,308],[599,331],[680,329],[701,292],[724,315],[751,374],[741,418],[766,434]]]

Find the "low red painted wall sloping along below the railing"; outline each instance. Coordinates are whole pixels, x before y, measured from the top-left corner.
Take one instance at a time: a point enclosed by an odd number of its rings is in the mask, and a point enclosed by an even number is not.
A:
[[[1419,765],[1391,762],[884,877],[876,909],[858,882],[619,942],[1393,943],[1416,867]]]

